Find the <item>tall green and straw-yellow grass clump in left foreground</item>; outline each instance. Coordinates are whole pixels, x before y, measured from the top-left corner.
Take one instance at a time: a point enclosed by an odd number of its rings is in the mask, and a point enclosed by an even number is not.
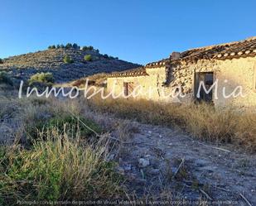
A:
[[[44,134],[44,138],[45,138]],[[0,147],[0,203],[109,199],[123,195],[122,177],[104,160],[106,146],[80,146],[67,132],[47,132],[31,150]]]

